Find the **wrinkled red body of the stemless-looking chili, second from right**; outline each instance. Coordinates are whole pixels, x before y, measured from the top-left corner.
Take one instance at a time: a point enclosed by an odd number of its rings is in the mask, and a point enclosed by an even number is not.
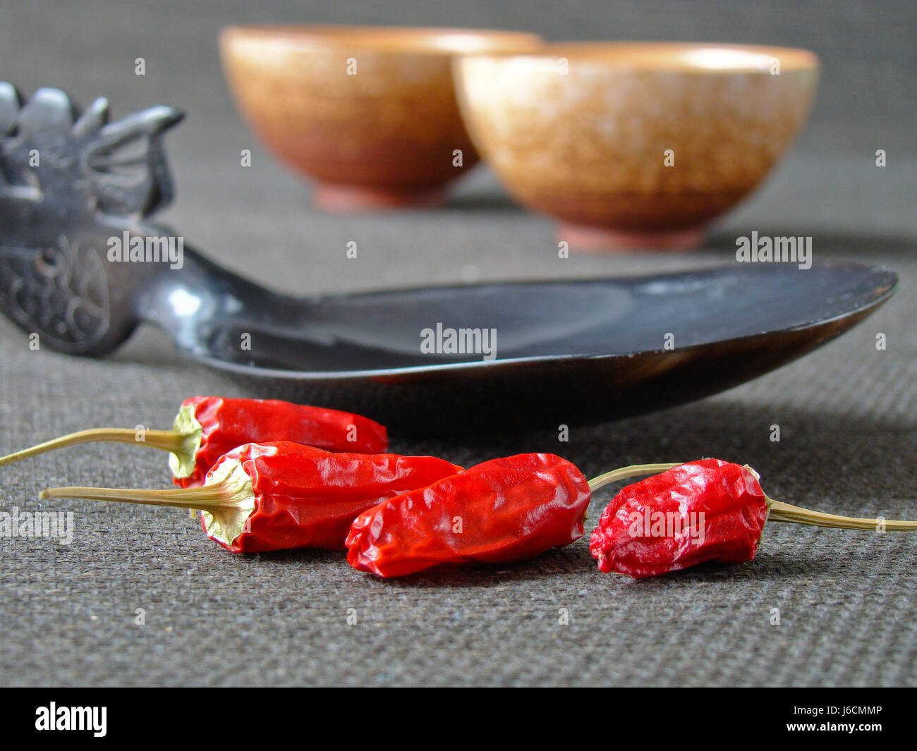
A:
[[[492,459],[360,514],[348,563],[386,578],[532,558],[582,536],[590,496],[580,470],[553,454]]]

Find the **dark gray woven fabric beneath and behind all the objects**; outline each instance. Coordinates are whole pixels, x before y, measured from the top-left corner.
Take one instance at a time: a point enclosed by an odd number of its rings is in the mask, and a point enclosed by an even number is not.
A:
[[[548,3],[462,4],[465,15],[454,8],[437,15],[416,3],[393,9],[389,19],[380,16],[382,6],[352,3],[295,12],[280,2],[199,12],[101,0],[53,12],[41,5],[0,2],[0,79],[28,93],[63,85],[83,104],[105,94],[116,116],[160,103],[186,108],[188,121],[167,137],[178,200],[162,220],[227,266],[296,293],[470,275],[549,278],[558,273],[552,226],[511,204],[484,170],[440,209],[316,213],[304,183],[252,144],[232,110],[215,58],[223,22],[510,27],[525,18],[556,39],[694,37],[813,47],[825,74],[812,127],[762,190],[713,228],[701,252],[575,256],[562,273],[727,262],[735,237],[757,229],[812,235],[816,259],[888,265],[900,274],[889,304],[845,337],[757,381],[678,409],[575,428],[569,444],[558,445],[554,426],[504,436],[494,425],[492,435],[458,443],[392,436],[392,448],[465,464],[556,451],[587,474],[720,456],[755,466],[768,493],[790,503],[917,516],[917,97],[912,71],[906,74],[913,52],[901,36],[912,7],[870,13],[867,3],[781,4],[768,12],[724,4],[701,12],[710,4],[574,3],[560,18],[559,6]],[[133,74],[139,55],[147,58],[144,80]],[[248,170],[238,167],[242,148],[255,149]],[[889,149],[884,169],[874,165],[878,148]],[[359,243],[359,262],[345,260],[350,239]],[[888,339],[884,351],[875,347],[878,332]],[[31,351],[28,339],[0,320],[0,452],[89,426],[165,427],[182,398],[211,392],[238,390],[177,359],[155,331],[140,331],[109,359],[74,359]],[[769,439],[773,424],[781,427],[779,443]],[[518,565],[379,581],[349,569],[338,553],[231,557],[178,510],[37,500],[50,485],[164,487],[168,477],[159,452],[114,445],[3,469],[0,510],[69,510],[75,531],[69,546],[0,537],[0,682],[917,683],[917,536],[775,524],[751,563],[640,582],[599,573],[583,538]],[[609,497],[599,494],[592,519]],[[560,623],[561,609],[569,623]],[[356,624],[348,624],[349,613]]]

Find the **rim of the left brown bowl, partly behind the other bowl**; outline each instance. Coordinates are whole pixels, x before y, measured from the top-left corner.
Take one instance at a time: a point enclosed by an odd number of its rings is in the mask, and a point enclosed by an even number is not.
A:
[[[456,43],[458,39],[484,44],[462,46]],[[220,31],[223,45],[243,40],[299,50],[348,49],[447,57],[502,50],[536,50],[544,44],[535,32],[495,28],[254,24],[227,26]],[[508,49],[510,47],[512,50]]]

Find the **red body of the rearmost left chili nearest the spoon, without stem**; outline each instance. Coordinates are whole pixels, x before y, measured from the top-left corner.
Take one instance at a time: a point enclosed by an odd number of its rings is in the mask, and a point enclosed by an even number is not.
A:
[[[192,473],[174,478],[182,488],[203,484],[207,470],[218,458],[248,443],[293,441],[356,454],[381,454],[389,447],[384,425],[359,414],[275,399],[220,396],[193,396],[182,402],[185,407],[193,410],[202,430]],[[351,437],[354,440],[348,440]]]

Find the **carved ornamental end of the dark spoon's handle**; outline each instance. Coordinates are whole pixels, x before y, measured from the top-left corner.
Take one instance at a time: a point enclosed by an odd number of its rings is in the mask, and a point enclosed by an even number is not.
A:
[[[157,106],[110,123],[104,98],[81,112],[0,82],[0,309],[42,343],[102,354],[136,325],[149,271],[109,261],[108,238],[161,234],[143,219],[171,202],[161,138],[181,119]]]

